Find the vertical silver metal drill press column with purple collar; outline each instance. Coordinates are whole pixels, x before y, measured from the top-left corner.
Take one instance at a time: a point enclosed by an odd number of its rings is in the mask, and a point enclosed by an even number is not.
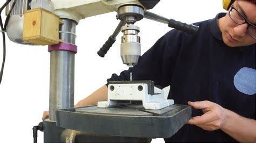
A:
[[[62,44],[49,46],[50,60],[50,104],[49,118],[56,120],[55,111],[74,106],[74,74],[76,53],[76,23],[62,19],[59,38]]]

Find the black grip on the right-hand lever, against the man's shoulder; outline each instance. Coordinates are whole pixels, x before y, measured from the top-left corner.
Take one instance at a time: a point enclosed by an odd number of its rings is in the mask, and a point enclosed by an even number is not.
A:
[[[168,26],[192,35],[196,35],[199,30],[199,26],[181,23],[173,19],[170,19]]]

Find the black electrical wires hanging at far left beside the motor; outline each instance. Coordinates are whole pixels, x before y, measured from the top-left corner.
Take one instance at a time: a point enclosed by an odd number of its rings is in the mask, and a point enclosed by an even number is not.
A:
[[[1,25],[2,35],[3,35],[3,61],[2,61],[1,71],[0,71],[0,84],[2,83],[2,77],[3,77],[3,71],[4,71],[4,63],[5,63],[5,55],[6,55],[6,44],[5,44],[5,33],[4,32],[6,31],[6,26],[7,26],[8,22],[9,22],[11,11],[12,11],[12,9],[14,9],[14,6],[15,6],[17,0],[15,0],[12,3],[11,8],[10,8],[10,10],[8,12],[8,15],[6,16],[5,23],[3,25],[2,11],[10,2],[11,2],[11,0],[6,1],[3,4],[3,6],[1,7],[1,9],[0,9],[0,25]]]

